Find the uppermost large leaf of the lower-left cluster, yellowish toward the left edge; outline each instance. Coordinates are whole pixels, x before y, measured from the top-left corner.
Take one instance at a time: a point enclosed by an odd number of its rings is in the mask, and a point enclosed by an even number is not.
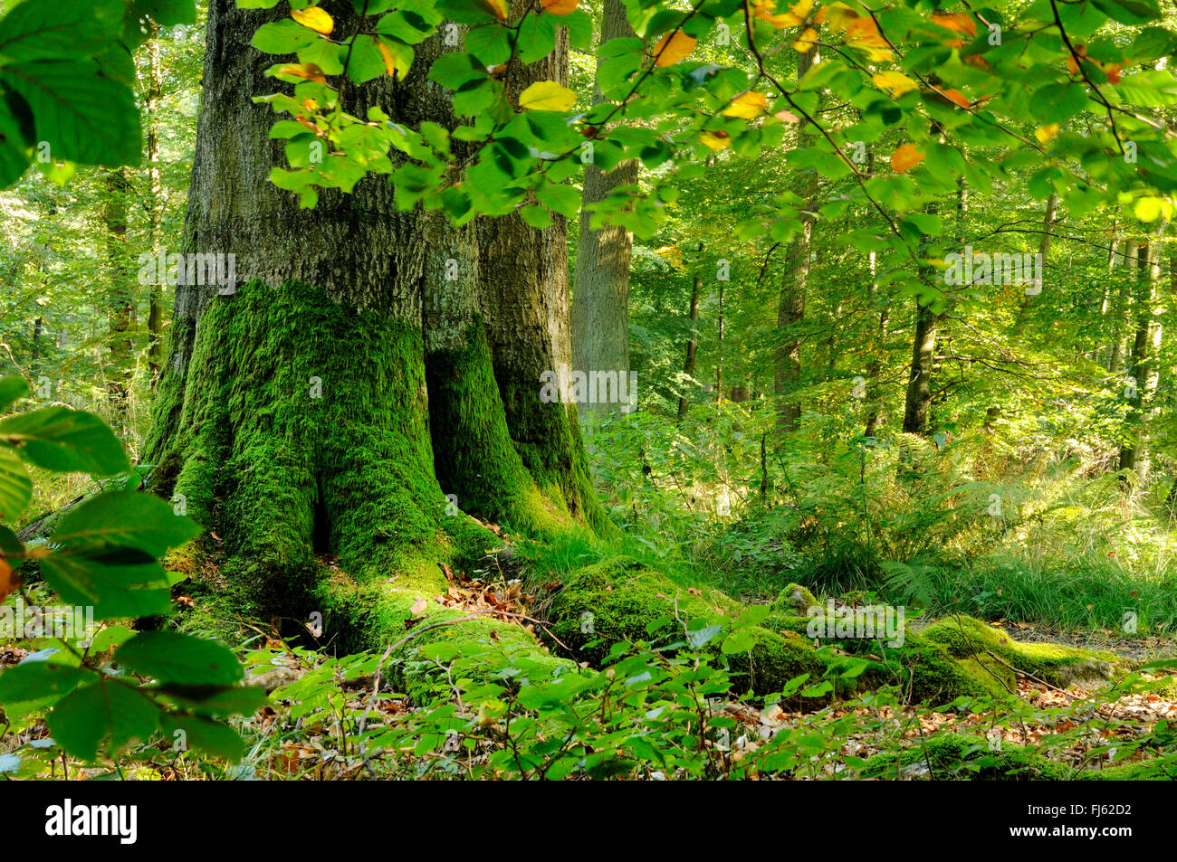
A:
[[[68,407],[46,407],[0,422],[0,440],[20,456],[59,473],[108,476],[129,469],[122,445],[102,420]]]

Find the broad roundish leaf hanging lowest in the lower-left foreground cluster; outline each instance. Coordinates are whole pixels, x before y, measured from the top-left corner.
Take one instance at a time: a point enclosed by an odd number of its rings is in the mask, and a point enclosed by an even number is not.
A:
[[[61,700],[49,713],[53,739],[81,760],[98,757],[104,741],[118,751],[132,741],[146,742],[159,728],[159,707],[115,680],[100,679]]]

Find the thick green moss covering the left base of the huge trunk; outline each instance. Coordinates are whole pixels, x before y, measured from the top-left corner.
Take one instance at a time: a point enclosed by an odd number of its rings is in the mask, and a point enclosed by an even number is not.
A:
[[[410,609],[425,599],[421,634],[406,648],[460,639],[463,653],[571,667],[510,622],[426,628],[464,615],[433,601],[446,590],[440,566],[470,562],[500,540],[446,514],[423,355],[418,327],[297,282],[214,298],[186,376],[172,369],[161,389],[148,452],[160,465],[154,487],[182,495],[224,543],[221,592],[288,619],[287,634],[321,612],[334,648],[383,650],[405,636],[406,620],[421,615]],[[493,386],[467,372],[467,388]],[[463,434],[483,429],[459,419],[467,425],[458,443],[468,445]]]

